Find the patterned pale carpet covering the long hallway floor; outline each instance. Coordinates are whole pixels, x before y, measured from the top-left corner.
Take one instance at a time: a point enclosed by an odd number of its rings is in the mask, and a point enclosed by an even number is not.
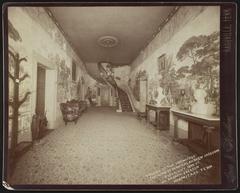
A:
[[[132,113],[95,107],[25,153],[11,184],[161,184],[149,174],[191,155],[168,131]]]

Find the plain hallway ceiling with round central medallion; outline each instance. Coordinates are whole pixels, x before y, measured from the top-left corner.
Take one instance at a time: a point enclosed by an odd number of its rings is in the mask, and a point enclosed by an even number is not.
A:
[[[174,6],[49,7],[84,62],[107,61],[116,65],[130,64],[173,9]]]

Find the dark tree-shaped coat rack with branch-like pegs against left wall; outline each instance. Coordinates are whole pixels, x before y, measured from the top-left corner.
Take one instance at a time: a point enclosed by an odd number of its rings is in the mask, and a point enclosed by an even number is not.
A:
[[[8,72],[9,77],[13,80],[13,99],[9,100],[9,105],[12,107],[13,113],[9,117],[12,119],[12,136],[11,136],[11,149],[13,153],[15,153],[17,143],[18,143],[18,118],[19,118],[19,108],[20,106],[27,100],[30,92],[26,92],[22,99],[19,99],[19,85],[22,81],[24,81],[29,75],[25,73],[22,77],[20,77],[20,64],[23,61],[27,61],[26,58],[20,58],[19,54],[14,54],[9,50],[10,56],[14,60],[14,74],[10,71]]]

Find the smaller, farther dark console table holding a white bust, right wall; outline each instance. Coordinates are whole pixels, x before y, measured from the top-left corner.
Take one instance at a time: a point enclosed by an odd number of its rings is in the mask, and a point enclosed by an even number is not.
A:
[[[156,120],[156,128],[157,129],[169,129],[169,112],[170,106],[154,106],[147,104],[146,105],[146,119],[149,122],[149,111],[153,110],[156,112],[155,120]]]

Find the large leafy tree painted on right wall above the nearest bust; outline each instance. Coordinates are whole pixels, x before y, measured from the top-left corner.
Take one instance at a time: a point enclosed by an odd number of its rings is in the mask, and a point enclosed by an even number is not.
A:
[[[196,89],[206,91],[205,102],[219,107],[219,32],[210,35],[192,36],[184,42],[177,53],[179,61],[190,59],[191,66],[178,70],[178,78],[196,80]],[[218,115],[219,109],[216,109]]]

